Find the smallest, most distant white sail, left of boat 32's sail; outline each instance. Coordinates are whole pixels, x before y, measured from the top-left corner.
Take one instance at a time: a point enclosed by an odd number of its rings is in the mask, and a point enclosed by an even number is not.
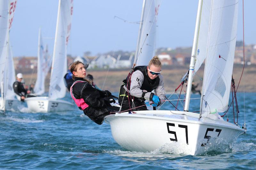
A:
[[[38,52],[37,52],[37,78],[34,91],[36,95],[42,95],[45,92],[44,81],[52,63],[52,57],[48,54],[48,49],[44,48],[41,29],[38,36]]]

